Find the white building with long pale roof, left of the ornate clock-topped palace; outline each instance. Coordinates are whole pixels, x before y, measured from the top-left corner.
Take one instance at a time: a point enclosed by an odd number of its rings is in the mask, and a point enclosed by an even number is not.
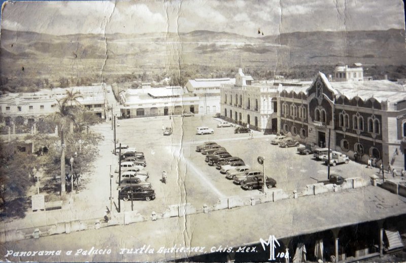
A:
[[[235,84],[235,79],[194,79],[189,80],[185,89],[189,93],[199,96],[199,113],[215,114],[220,111],[220,86],[222,84]]]

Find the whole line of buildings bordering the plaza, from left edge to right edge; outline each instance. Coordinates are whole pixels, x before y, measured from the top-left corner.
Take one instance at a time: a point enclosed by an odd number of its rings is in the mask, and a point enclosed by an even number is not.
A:
[[[166,81],[166,82],[165,82]],[[235,78],[193,79],[185,87],[167,86],[168,80],[151,87],[132,83],[74,87],[100,118],[109,115],[106,96],[119,100],[120,118],[180,115],[182,112],[214,115],[249,125],[264,133],[282,133],[302,143],[330,147],[361,161],[376,158],[384,165],[405,168],[406,92],[401,82],[371,80],[359,63],[338,64],[332,74],[317,73],[312,80],[254,81],[239,69]],[[158,85],[158,86],[159,86]],[[156,84],[154,86],[157,86]],[[3,126],[35,123],[58,110],[62,89],[0,97]],[[330,137],[329,137],[330,134]]]

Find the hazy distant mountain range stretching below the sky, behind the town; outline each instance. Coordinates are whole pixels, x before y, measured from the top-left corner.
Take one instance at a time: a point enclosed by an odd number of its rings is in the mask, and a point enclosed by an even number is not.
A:
[[[107,49],[107,50],[106,50]],[[257,37],[188,33],[50,35],[2,29],[0,76],[78,77],[161,72],[187,65],[289,68],[345,63],[405,64],[404,30],[292,32]],[[179,63],[181,65],[179,65]]]

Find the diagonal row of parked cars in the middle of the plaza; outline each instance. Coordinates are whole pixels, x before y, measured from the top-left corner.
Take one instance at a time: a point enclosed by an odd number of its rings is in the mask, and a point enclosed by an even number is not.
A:
[[[235,156],[231,156],[227,150],[216,142],[205,142],[196,146],[196,152],[206,155],[205,161],[209,166],[216,166],[220,173],[226,174],[227,179],[232,179],[235,184],[241,185],[244,189],[260,189],[263,186],[263,174],[253,170],[249,165]],[[266,177],[266,186],[276,186],[276,180]]]

